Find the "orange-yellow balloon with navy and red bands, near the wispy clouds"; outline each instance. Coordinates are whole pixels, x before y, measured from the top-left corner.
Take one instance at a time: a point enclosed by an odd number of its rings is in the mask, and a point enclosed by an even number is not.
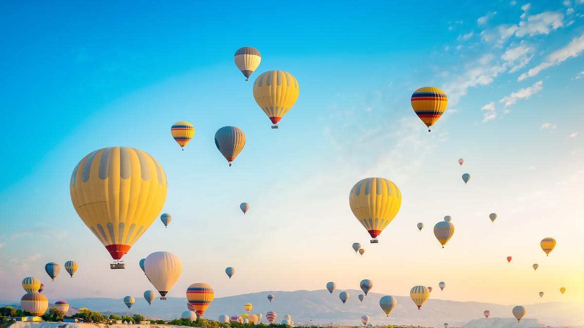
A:
[[[428,132],[430,132],[430,127],[446,110],[448,99],[442,90],[426,86],[413,92],[411,103],[413,111],[426,124]]]

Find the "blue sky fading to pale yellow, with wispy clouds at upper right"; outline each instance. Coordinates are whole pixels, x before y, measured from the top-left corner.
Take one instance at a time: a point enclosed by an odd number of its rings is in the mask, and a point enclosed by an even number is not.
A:
[[[0,6],[0,299],[18,300],[29,275],[50,301],[138,297],[152,289],[138,260],[165,250],[183,262],[169,296],[192,282],[227,296],[369,278],[392,295],[446,281],[432,298],[584,301],[583,0]],[[242,46],[262,53],[252,81],[298,79],[279,130],[234,65]],[[409,103],[427,85],[449,96],[431,133]],[[196,130],[185,151],[169,132],[180,120]],[[247,137],[231,168],[213,142],[224,125]],[[172,222],[154,222],[126,270],[109,269],[69,198],[74,166],[106,146],[142,149],[168,177]],[[377,245],[347,200],[370,176],[403,196]],[[456,232],[442,249],[432,227],[444,215]],[[67,260],[75,277],[50,282],[44,264]]]

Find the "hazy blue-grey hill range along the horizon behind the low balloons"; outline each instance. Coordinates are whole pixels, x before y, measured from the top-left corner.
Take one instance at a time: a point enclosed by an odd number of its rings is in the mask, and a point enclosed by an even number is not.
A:
[[[456,302],[429,299],[421,310],[418,310],[409,296],[396,296],[397,306],[390,317],[379,307],[379,299],[383,294],[369,293],[363,303],[357,295],[361,291],[346,290],[349,300],[343,304],[339,300],[339,292],[329,294],[326,290],[318,291],[265,291],[244,295],[215,298],[208,307],[204,317],[217,319],[219,315],[235,315],[244,313],[244,303],[252,303],[251,313],[274,311],[278,320],[284,315],[291,315],[296,325],[330,324],[357,326],[361,324],[362,315],[369,315],[373,324],[404,324],[442,327],[444,323],[450,326],[465,327],[538,327],[538,326],[582,326],[584,324],[583,303],[550,302],[523,304],[527,315],[520,324],[513,319],[511,309],[515,305],[499,305],[481,302]],[[440,292],[440,291],[434,291]],[[267,294],[274,294],[272,303],[267,301]],[[81,298],[66,299],[74,308],[89,308],[102,313],[141,313],[146,317],[174,319],[186,310],[186,298],[168,298],[166,301],[155,299],[149,306],[144,298],[136,297],[132,308],[128,311],[122,299],[112,298]],[[491,317],[485,319],[484,310],[491,311]],[[527,324],[527,326],[524,325]]]

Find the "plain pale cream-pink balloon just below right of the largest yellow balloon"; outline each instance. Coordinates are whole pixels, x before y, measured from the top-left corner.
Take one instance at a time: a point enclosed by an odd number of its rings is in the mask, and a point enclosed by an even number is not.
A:
[[[180,277],[182,263],[175,254],[154,252],[146,257],[144,269],[148,280],[160,294],[160,299],[164,300],[168,291]]]

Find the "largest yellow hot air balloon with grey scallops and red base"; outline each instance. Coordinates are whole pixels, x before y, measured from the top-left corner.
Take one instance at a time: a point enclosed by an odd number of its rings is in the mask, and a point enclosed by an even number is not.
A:
[[[140,149],[102,148],[75,166],[69,191],[79,217],[119,260],[162,210],[166,175]]]

